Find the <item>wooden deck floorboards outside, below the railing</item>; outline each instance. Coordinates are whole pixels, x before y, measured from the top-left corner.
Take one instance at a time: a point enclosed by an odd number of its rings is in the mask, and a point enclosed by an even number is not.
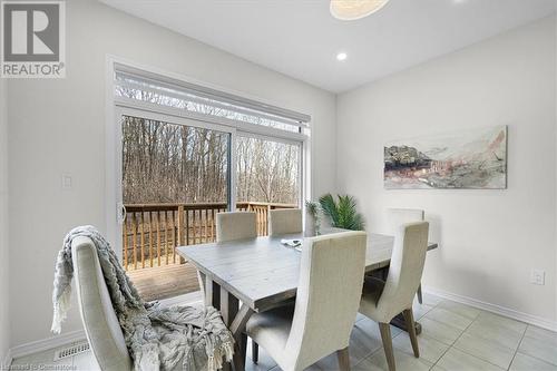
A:
[[[197,270],[189,263],[126,272],[145,301],[184,295],[199,290]]]

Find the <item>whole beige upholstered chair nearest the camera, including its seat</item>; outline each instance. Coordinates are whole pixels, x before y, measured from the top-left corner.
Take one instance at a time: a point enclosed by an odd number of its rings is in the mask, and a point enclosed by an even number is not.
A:
[[[253,314],[246,332],[285,371],[299,371],[336,352],[350,370],[349,341],[362,293],[364,232],[304,240],[294,305]]]

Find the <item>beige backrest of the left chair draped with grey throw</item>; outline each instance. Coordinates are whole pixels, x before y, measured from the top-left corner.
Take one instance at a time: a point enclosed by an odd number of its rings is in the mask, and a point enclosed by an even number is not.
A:
[[[104,371],[131,370],[131,359],[102,276],[97,248],[88,237],[71,243],[74,277],[87,340]]]

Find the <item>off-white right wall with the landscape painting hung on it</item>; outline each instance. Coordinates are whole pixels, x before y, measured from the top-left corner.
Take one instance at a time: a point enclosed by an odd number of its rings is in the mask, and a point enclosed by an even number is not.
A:
[[[556,42],[547,18],[338,97],[340,192],[369,230],[388,207],[424,208],[424,285],[556,320]],[[383,145],[468,127],[509,126],[508,189],[385,191]],[[529,283],[530,269],[547,272]]]

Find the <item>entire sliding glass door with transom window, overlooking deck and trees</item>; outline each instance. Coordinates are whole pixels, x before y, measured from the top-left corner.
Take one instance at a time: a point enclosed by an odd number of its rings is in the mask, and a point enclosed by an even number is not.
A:
[[[300,207],[309,117],[160,76],[117,70],[121,257],[145,300],[198,290],[180,245],[215,241],[215,216]]]

